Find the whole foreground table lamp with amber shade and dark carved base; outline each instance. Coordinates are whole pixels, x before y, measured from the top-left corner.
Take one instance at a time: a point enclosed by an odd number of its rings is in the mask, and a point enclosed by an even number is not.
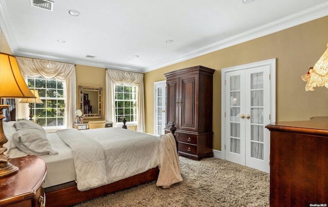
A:
[[[0,100],[1,98],[35,98],[20,74],[16,58],[5,53],[0,53]],[[18,171],[16,166],[8,162],[8,157],[4,154],[7,148],[3,145],[8,139],[4,133],[2,120],[5,118],[3,109],[8,107],[9,105],[0,105],[0,178]]]

